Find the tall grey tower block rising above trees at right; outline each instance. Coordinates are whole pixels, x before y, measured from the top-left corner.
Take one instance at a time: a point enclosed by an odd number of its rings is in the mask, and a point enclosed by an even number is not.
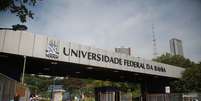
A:
[[[181,55],[183,56],[183,46],[182,41],[176,38],[172,38],[170,40],[170,52],[173,55]]]

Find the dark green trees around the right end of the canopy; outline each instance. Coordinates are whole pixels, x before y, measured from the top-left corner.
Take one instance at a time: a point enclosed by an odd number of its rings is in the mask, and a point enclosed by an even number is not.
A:
[[[186,68],[181,79],[171,82],[173,92],[201,92],[201,62],[195,64],[183,56],[168,53],[153,60]]]

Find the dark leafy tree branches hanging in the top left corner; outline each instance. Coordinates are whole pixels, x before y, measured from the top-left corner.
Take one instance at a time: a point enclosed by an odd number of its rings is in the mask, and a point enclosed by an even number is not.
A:
[[[0,0],[0,12],[10,11],[19,17],[22,23],[33,19],[34,13],[29,6],[35,6],[39,0]]]

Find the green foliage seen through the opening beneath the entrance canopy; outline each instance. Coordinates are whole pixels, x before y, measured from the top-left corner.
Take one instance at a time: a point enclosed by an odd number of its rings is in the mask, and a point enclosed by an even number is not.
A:
[[[41,77],[37,75],[25,75],[25,83],[28,85],[32,93],[40,94],[48,98],[50,94],[47,92],[49,85],[53,84],[53,77]],[[112,82],[92,79],[68,78],[55,80],[56,85],[64,85],[64,89],[70,92],[70,95],[85,94],[94,97],[94,88],[96,87],[117,87],[124,91],[131,92],[133,96],[140,96],[140,86],[132,83]]]

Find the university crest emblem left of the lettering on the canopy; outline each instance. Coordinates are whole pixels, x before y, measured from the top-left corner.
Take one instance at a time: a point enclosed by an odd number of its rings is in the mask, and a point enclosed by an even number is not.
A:
[[[53,59],[59,58],[59,41],[48,40],[46,56]]]

